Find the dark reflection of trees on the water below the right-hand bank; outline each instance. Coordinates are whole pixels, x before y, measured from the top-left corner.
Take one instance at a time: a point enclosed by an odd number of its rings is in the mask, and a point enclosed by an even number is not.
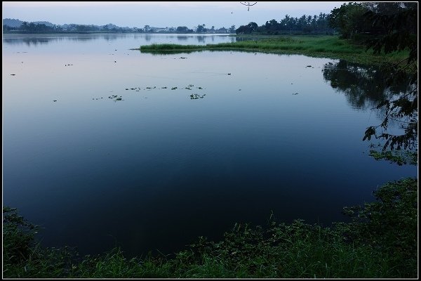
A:
[[[346,60],[327,63],[323,78],[330,81],[334,89],[345,93],[348,102],[359,109],[376,107],[382,100],[410,91],[408,84],[387,86],[385,73],[378,67],[366,67]]]

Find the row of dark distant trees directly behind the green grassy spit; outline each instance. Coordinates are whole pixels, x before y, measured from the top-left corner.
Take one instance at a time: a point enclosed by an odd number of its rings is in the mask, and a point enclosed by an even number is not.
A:
[[[285,15],[279,22],[269,20],[265,25],[258,26],[255,22],[248,25],[241,25],[236,29],[236,34],[333,34],[334,28],[329,25],[329,15],[302,15],[300,18],[293,18]]]

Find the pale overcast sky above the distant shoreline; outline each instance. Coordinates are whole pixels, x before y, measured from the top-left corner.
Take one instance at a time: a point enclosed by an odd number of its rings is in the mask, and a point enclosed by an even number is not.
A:
[[[254,4],[255,1],[242,2]],[[120,27],[178,27],[189,28],[205,24],[215,28],[247,25],[256,22],[264,25],[267,20],[277,21],[290,15],[330,13],[333,8],[346,2],[260,2],[243,6],[241,2],[69,2],[69,1],[4,1],[3,18],[15,18],[27,22],[48,21],[55,25],[76,23],[79,25],[106,25],[113,23]]]

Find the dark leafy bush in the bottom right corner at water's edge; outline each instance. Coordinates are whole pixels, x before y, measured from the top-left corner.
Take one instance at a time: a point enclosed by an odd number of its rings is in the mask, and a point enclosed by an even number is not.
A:
[[[345,207],[352,217],[344,233],[356,244],[370,244],[375,250],[396,259],[396,270],[403,272],[417,265],[417,178],[389,182],[374,195],[376,202],[363,207]],[[409,272],[408,272],[409,273]]]

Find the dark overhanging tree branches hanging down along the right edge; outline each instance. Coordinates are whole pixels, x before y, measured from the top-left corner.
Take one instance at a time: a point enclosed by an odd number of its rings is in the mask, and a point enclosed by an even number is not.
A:
[[[381,124],[366,129],[363,140],[370,140],[371,136],[383,139],[385,140],[383,150],[387,148],[417,150],[417,5],[401,4],[395,11],[376,8],[377,6],[373,5],[372,10],[364,14],[364,20],[372,22],[372,25],[382,25],[384,34],[367,39],[366,49],[373,48],[374,53],[379,54],[408,50],[406,58],[399,63],[384,65],[383,69],[389,73],[389,76],[385,77],[387,84],[406,82],[412,89],[396,98],[382,100],[377,105],[377,108],[386,109],[385,117]],[[396,135],[387,132],[390,119],[401,121],[403,133]]]

